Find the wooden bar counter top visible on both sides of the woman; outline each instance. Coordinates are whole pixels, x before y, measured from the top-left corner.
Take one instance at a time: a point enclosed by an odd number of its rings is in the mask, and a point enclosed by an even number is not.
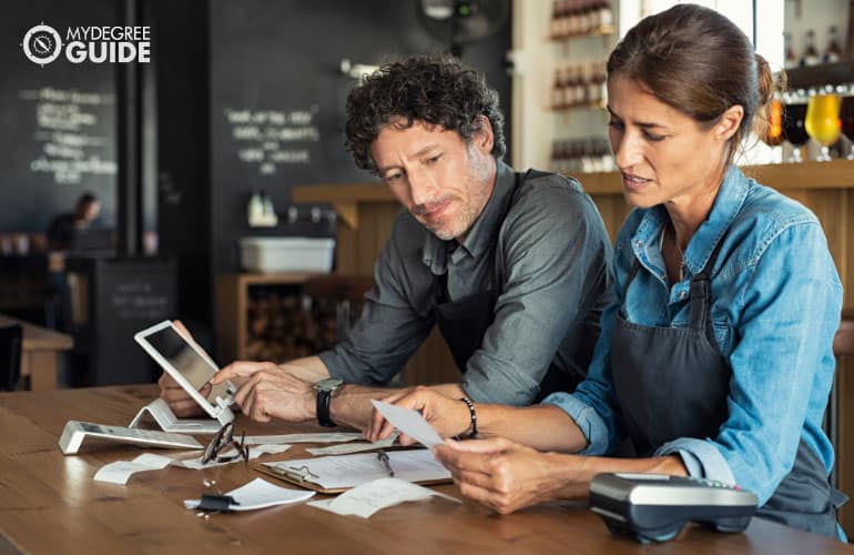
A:
[[[776,190],[854,189],[854,160],[793,164],[742,165],[745,175]],[[622,193],[619,172],[577,173],[589,194]]]

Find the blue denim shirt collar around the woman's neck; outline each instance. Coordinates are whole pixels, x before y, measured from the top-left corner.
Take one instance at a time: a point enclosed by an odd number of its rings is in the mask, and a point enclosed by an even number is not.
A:
[[[749,189],[750,180],[738,167],[731,167],[723,178],[721,189],[718,191],[718,196],[714,199],[709,216],[700,224],[700,228],[698,228],[688,243],[682,261],[690,275],[697,275],[705,268],[715,246],[718,246],[726,230],[730,229],[742,204],[744,204]],[[661,204],[653,206],[643,214],[632,236],[632,246],[638,258],[649,260],[644,251],[650,245],[659,244],[658,241],[664,230],[664,223],[668,221],[667,209]]]

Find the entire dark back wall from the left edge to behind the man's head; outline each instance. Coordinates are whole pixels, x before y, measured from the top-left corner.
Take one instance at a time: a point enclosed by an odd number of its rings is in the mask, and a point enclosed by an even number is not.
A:
[[[294,184],[374,179],[355,168],[343,147],[345,99],[355,81],[342,73],[340,63],[346,58],[378,64],[399,54],[448,51],[449,41],[420,23],[419,6],[416,0],[28,0],[4,6],[0,232],[43,231],[84,190],[101,198],[103,225],[123,228],[116,204],[128,198],[120,192],[130,185],[120,182],[116,168],[122,144],[116,105],[129,99],[118,98],[123,90],[116,87],[116,65],[61,58],[41,68],[24,58],[21,42],[41,21],[64,33],[69,26],[122,24],[132,10],[138,24],[151,27],[152,49],[133,92],[140,97],[142,133],[140,221],[144,229],[156,228],[161,255],[176,261],[174,317],[197,323],[204,334],[212,326],[214,276],[240,271],[241,238],[334,233],[308,222],[250,229],[246,203],[253,191],[265,191],[284,210]],[[499,91],[508,124],[510,78],[504,60],[509,48],[506,21],[497,36],[466,46],[461,57]],[[93,93],[98,101],[22,95],[47,88]],[[48,120],[39,123],[40,107],[54,114],[55,124],[68,125],[73,113],[83,113],[91,124],[59,138]],[[277,140],[255,137],[253,128],[272,130]],[[62,140],[91,144],[63,150]],[[260,153],[272,164],[260,162]],[[55,167],[77,159],[101,163],[83,164],[79,175],[33,169],[33,161]]]

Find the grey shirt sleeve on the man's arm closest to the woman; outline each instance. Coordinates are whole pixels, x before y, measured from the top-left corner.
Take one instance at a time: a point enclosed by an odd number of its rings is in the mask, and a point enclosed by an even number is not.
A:
[[[565,341],[589,357],[588,321],[608,291],[611,260],[604,225],[583,193],[558,183],[521,204],[499,236],[501,293],[462,382],[476,401],[517,406],[540,394]]]

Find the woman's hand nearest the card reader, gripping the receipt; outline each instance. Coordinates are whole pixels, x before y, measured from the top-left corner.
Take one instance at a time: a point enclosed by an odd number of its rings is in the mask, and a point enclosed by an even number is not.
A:
[[[447,440],[435,453],[464,496],[502,515],[562,497],[565,464],[577,458],[540,453],[504,437]]]

